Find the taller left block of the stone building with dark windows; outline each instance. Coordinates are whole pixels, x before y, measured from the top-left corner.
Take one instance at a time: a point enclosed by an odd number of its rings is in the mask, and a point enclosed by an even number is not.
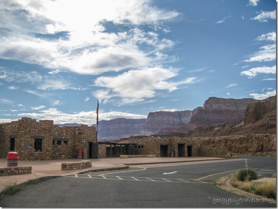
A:
[[[11,147],[12,139],[14,147]],[[88,140],[97,143],[95,127],[59,127],[52,120],[37,122],[23,117],[0,124],[0,158],[15,151],[19,160],[70,159],[77,158],[77,149],[82,149],[86,159]]]

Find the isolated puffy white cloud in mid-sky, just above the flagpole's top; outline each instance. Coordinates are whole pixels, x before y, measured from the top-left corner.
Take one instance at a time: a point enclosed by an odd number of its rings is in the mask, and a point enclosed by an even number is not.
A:
[[[112,97],[120,96],[123,102],[142,102],[145,98],[154,97],[156,91],[174,91],[182,84],[196,82],[196,78],[187,78],[177,82],[168,79],[177,76],[176,70],[161,67],[143,70],[130,70],[115,77],[98,77],[95,85],[105,89],[93,93],[96,98],[107,101]]]

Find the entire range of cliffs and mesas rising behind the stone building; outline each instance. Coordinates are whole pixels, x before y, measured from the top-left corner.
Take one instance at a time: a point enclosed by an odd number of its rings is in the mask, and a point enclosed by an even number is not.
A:
[[[276,100],[271,100],[271,97],[269,99],[259,101],[251,98],[210,97],[203,107],[197,107],[193,111],[153,112],[148,114],[147,119],[102,120],[98,125],[98,139],[118,140],[130,136],[170,133],[187,133],[188,136],[223,136],[246,131],[271,133],[274,132],[273,127],[276,127],[276,114],[268,113],[276,113]],[[264,122],[261,121],[261,117],[264,118]]]

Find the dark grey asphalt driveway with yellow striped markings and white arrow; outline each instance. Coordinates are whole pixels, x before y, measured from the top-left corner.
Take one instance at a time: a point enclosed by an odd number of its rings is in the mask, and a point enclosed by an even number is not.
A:
[[[263,175],[276,172],[276,158],[248,157]],[[213,181],[245,167],[243,159],[131,167],[57,177],[24,187],[1,207],[276,207],[217,188]],[[265,201],[271,201],[266,199]]]

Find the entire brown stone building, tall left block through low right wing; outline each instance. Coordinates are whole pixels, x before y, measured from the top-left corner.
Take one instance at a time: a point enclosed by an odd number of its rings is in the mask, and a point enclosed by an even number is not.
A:
[[[209,142],[209,143],[208,143]],[[0,124],[0,158],[16,151],[19,160],[82,159],[155,155],[156,157],[227,157],[227,147],[214,140],[184,137],[140,136],[122,142],[97,142],[96,128],[87,125],[59,127],[52,120],[23,117]]]

